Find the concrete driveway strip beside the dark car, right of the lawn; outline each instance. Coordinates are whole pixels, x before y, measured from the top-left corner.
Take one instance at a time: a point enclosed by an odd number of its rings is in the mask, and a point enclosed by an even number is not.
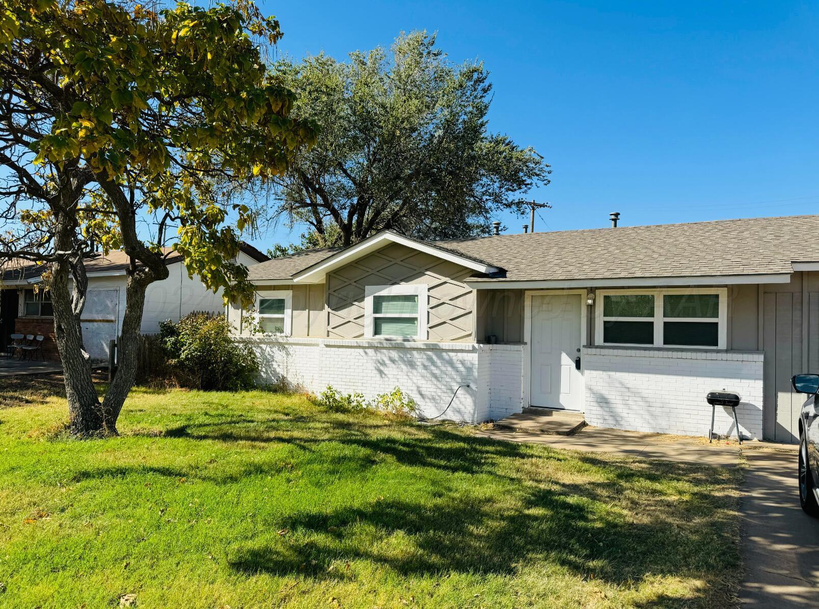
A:
[[[796,453],[745,453],[744,607],[819,607],[819,520],[799,507]]]

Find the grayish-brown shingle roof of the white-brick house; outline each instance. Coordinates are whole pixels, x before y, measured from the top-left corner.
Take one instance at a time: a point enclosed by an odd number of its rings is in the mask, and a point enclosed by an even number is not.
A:
[[[819,215],[530,232],[424,241],[504,269],[486,281],[703,277],[791,273],[819,261]],[[290,279],[339,250],[308,250],[256,264],[252,281]]]

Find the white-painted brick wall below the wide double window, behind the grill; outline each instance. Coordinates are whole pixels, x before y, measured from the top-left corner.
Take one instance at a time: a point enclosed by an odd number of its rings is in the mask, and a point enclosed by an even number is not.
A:
[[[762,439],[762,353],[584,347],[586,422],[600,427],[708,435],[709,391],[738,393],[744,437]],[[717,407],[714,433],[736,431]]]

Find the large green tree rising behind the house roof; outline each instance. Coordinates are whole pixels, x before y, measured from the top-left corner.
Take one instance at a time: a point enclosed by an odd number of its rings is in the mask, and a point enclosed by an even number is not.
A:
[[[298,100],[293,116],[321,127],[278,187],[279,218],[309,226],[307,244],[346,246],[382,228],[425,239],[485,234],[499,210],[523,212],[550,169],[531,147],[491,133],[482,63],[454,65],[424,32],[390,52],[278,61]]]

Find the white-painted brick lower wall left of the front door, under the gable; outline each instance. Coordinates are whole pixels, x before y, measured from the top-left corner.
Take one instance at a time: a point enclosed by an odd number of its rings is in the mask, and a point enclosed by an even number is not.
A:
[[[242,338],[259,355],[263,382],[286,379],[319,393],[328,385],[366,399],[396,386],[419,404],[419,414],[482,422],[520,412],[521,345],[476,345],[316,338]]]

